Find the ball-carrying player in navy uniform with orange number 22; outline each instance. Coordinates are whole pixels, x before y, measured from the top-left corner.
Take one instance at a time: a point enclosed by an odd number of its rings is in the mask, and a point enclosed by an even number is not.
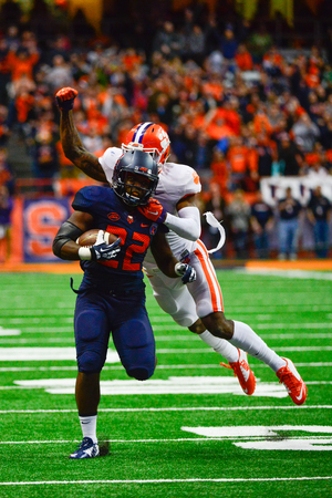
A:
[[[147,248],[160,270],[170,278],[193,282],[195,270],[179,262],[165,238],[164,225],[147,219],[142,208],[158,183],[158,166],[144,152],[125,153],[114,169],[113,187],[84,187],[72,203],[74,212],[61,226],[53,252],[61,259],[80,260],[84,277],[77,292],[74,330],[79,373],[75,397],[83,440],[70,458],[98,456],[96,417],[100,373],[110,333],[128,376],[149,378],[156,354],[153,330],[145,308],[142,264]],[[157,203],[157,201],[156,201]],[[92,247],[77,238],[96,228]],[[166,229],[167,230],[167,229]],[[105,234],[117,239],[108,243]]]

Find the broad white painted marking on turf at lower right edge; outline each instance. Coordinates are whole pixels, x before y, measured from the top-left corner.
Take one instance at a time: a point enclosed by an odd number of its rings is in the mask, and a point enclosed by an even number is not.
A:
[[[332,450],[332,427],[324,425],[245,425],[237,427],[181,427],[181,429],[198,436],[228,439],[235,446],[245,449]]]

